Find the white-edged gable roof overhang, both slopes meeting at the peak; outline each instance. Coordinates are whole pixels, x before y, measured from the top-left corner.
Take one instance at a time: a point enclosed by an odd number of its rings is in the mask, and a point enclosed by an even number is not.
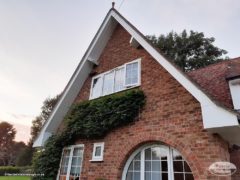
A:
[[[167,60],[167,58],[164,57],[158,49],[153,47],[142,33],[140,33],[119,12],[112,8],[107,13],[102,25],[67,84],[48,121],[41,129],[41,132],[34,142],[34,147],[43,146],[49,136],[56,132],[59,124],[69,110],[83,83],[90,74],[93,65],[98,64],[98,58],[100,57],[117,24],[120,24],[134,40],[136,40],[163,68],[165,68],[200,102],[205,129],[212,130],[212,132],[215,133],[222,127],[234,127],[234,132],[238,132],[240,135],[239,123],[235,112],[229,111],[228,109],[215,103],[214,100],[211,99],[211,97],[209,97],[197,84],[191,81],[185,73]],[[233,143],[235,141],[239,141],[240,144],[240,139],[231,139],[232,134],[229,134],[229,131],[225,132],[225,129],[226,128],[224,128],[224,130],[221,129],[221,135],[224,136],[225,139],[233,141]]]

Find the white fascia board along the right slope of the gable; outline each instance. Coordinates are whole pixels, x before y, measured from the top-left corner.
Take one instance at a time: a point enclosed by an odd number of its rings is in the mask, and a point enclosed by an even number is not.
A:
[[[183,73],[166,60],[139,33],[137,33],[123,18],[112,12],[112,16],[136,39],[151,56],[166,69],[189,93],[201,104],[204,128],[239,125],[237,115],[217,106],[202,90],[192,83]]]

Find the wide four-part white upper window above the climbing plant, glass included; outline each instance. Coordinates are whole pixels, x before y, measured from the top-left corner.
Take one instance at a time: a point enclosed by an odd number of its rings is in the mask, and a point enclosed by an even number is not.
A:
[[[141,82],[140,62],[140,59],[137,59],[93,77],[90,99],[139,86]]]

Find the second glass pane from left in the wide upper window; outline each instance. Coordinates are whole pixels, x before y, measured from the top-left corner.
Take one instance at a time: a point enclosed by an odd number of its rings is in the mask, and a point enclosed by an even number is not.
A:
[[[103,95],[113,93],[114,71],[104,75],[103,78]]]

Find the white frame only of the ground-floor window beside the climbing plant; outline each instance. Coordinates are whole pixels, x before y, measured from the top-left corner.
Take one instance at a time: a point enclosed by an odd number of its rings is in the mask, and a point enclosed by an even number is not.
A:
[[[70,155],[69,155],[69,160],[68,160],[68,169],[67,169],[67,175],[66,175],[66,180],[69,180],[70,171],[71,171],[71,166],[72,166],[73,151],[74,151],[75,148],[78,148],[78,147],[83,148],[83,155],[82,155],[82,162],[83,162],[84,144],[71,145],[71,146],[68,146],[68,147],[63,148],[62,156],[61,156],[61,161],[60,161],[60,165],[59,165],[59,169],[58,169],[57,180],[59,180],[59,176],[60,176],[60,171],[61,171],[61,165],[62,165],[64,150],[70,149]],[[82,166],[82,162],[81,162],[80,166]],[[80,176],[81,176],[81,171],[80,171],[79,177],[80,177]]]

